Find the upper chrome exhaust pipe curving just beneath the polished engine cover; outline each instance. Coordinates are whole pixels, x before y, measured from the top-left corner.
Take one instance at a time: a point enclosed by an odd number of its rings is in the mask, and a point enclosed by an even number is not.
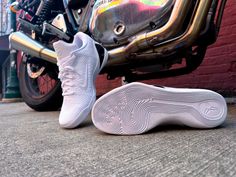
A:
[[[109,51],[111,63],[120,63],[127,60],[131,53],[152,47],[171,36],[176,35],[183,25],[187,16],[191,1],[176,0],[168,22],[157,30],[137,35],[127,46],[122,46]],[[113,60],[114,59],[114,60]]]

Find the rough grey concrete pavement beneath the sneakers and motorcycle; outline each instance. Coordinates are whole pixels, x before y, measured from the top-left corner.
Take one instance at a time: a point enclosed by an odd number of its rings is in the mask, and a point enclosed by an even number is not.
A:
[[[236,176],[236,106],[217,129],[157,127],[113,136],[91,120],[58,126],[59,112],[0,103],[0,176]]]

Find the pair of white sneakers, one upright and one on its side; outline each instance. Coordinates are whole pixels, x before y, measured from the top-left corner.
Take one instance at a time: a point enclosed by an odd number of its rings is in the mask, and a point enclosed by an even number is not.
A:
[[[101,46],[98,46],[81,32],[71,44],[54,43],[64,97],[59,116],[61,127],[77,127],[91,110],[98,129],[120,135],[141,134],[160,124],[213,128],[224,122],[227,115],[224,98],[205,89],[155,87],[135,82],[96,101],[95,79],[108,58],[105,49],[103,56],[99,56],[97,50]]]

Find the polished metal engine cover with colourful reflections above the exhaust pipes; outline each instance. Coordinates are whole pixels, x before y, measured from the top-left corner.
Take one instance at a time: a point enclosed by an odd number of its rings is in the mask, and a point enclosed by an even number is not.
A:
[[[138,33],[163,26],[174,3],[175,0],[97,0],[89,30],[105,47],[116,47]]]

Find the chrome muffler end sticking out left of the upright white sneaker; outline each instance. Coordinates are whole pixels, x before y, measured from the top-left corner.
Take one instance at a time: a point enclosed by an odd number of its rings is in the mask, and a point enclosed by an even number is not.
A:
[[[18,31],[9,36],[10,48],[20,50],[33,57],[42,58],[51,63],[57,63],[57,55],[53,50],[44,47],[39,42]]]

